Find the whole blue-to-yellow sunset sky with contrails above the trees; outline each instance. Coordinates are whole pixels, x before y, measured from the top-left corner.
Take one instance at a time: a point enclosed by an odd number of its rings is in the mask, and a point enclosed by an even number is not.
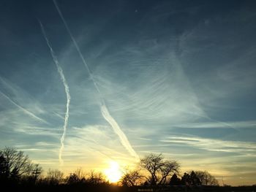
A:
[[[0,147],[46,171],[149,153],[256,177],[255,1],[0,1]]]

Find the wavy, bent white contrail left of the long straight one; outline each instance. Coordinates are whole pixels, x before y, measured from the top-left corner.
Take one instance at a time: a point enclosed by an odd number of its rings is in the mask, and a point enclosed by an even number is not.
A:
[[[38,20],[39,21],[39,20]],[[64,119],[64,126],[63,126],[63,134],[61,136],[61,147],[59,149],[59,162],[61,164],[61,166],[63,165],[64,161],[62,160],[62,151],[64,150],[64,139],[65,139],[65,136],[66,136],[66,131],[67,131],[67,123],[68,123],[68,120],[69,120],[69,104],[70,104],[70,94],[69,94],[69,85],[67,85],[67,80],[63,74],[63,71],[61,69],[61,66],[59,66],[59,61],[53,51],[53,48],[51,47],[50,45],[50,42],[46,36],[46,33],[45,33],[45,28],[42,26],[42,23],[39,21],[40,23],[40,26],[41,26],[41,30],[42,30],[42,34],[43,36],[45,37],[45,41],[50,49],[50,55],[52,56],[53,58],[53,61],[54,63],[56,64],[57,66],[57,69],[58,69],[58,72],[59,72],[59,75],[61,76],[61,81],[63,82],[63,85],[64,85],[64,88],[65,88],[65,92],[66,92],[66,95],[67,95],[67,104],[66,104],[66,113],[65,113],[65,119]]]

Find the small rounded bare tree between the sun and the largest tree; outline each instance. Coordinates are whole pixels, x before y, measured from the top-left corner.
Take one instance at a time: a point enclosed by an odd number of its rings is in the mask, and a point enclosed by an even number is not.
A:
[[[133,187],[136,185],[140,185],[142,182],[143,176],[140,174],[140,170],[129,170],[126,169],[124,171],[123,176],[121,177],[121,185],[127,186],[127,187]]]

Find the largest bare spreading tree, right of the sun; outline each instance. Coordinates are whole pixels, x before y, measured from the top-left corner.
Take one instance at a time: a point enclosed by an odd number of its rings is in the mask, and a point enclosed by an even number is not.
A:
[[[146,177],[150,185],[165,184],[167,178],[178,173],[179,164],[174,160],[165,160],[160,154],[149,154],[140,160],[140,166],[148,171],[149,176]]]

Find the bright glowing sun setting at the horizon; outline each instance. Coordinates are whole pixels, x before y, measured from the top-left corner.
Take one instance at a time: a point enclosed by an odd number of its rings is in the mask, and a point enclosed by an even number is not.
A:
[[[121,178],[120,166],[116,161],[110,161],[109,168],[105,169],[105,174],[110,183],[116,183]]]

